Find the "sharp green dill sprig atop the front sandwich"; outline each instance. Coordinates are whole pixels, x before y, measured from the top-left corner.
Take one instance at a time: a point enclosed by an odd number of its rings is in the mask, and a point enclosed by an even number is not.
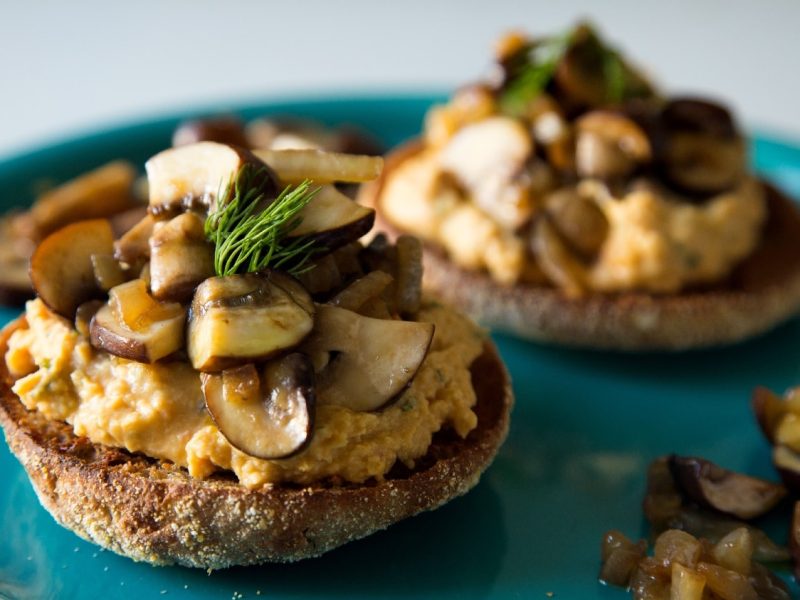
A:
[[[287,186],[265,205],[260,182],[264,169],[243,165],[217,195],[205,222],[206,237],[214,244],[217,275],[252,273],[267,267],[299,275],[316,253],[314,240],[288,238],[302,217],[299,213],[319,191],[309,180]]]

